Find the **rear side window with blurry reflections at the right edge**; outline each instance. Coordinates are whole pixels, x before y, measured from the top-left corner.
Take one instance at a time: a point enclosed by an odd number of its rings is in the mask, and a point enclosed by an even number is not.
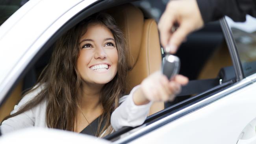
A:
[[[246,16],[245,22],[234,22],[226,17],[239,54],[244,76],[256,72],[256,18]]]

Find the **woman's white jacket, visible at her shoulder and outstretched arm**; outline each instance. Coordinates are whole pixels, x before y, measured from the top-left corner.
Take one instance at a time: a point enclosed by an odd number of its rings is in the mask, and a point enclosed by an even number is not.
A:
[[[148,116],[150,106],[152,102],[146,105],[135,105],[132,99],[132,94],[138,86],[134,87],[129,95],[123,96],[119,103],[121,105],[115,109],[111,115],[111,125],[117,131],[123,126],[138,126],[143,124]],[[41,87],[33,92],[27,94],[20,100],[18,105],[15,105],[11,114],[16,113],[19,108],[26,102],[31,100],[35,95],[41,91]],[[47,127],[46,125],[46,106],[47,102],[44,100],[39,105],[32,109],[25,111],[17,116],[13,116],[4,120],[0,126],[1,133],[6,134],[17,129],[23,129],[26,127]]]

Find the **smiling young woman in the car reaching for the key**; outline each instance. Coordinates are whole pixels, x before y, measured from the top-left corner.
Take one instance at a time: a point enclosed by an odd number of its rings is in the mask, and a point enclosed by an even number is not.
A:
[[[168,81],[157,72],[121,97],[129,70],[127,52],[110,15],[86,18],[56,42],[37,85],[5,118],[1,132],[38,126],[102,137],[113,128],[142,124],[150,101],[168,100],[187,79]]]

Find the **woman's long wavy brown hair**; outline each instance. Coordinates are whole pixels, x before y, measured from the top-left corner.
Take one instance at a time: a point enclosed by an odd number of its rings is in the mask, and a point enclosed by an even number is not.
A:
[[[126,76],[129,69],[126,42],[122,31],[118,28],[113,17],[106,13],[97,13],[71,28],[62,35],[55,43],[50,63],[41,72],[38,83],[26,94],[34,91],[41,85],[43,89],[29,102],[23,105],[17,113],[7,116],[16,116],[24,111],[32,109],[43,100],[47,101],[46,123],[50,128],[74,131],[76,112],[78,109],[78,91],[81,86],[81,77],[78,73],[76,63],[80,53],[79,40],[85,34],[88,24],[96,23],[106,26],[115,38],[118,52],[118,69],[116,76],[101,90],[100,102],[103,113],[96,136],[108,135],[113,128],[110,124],[111,113],[119,105],[119,98],[125,92]],[[100,127],[103,120],[103,128]]]

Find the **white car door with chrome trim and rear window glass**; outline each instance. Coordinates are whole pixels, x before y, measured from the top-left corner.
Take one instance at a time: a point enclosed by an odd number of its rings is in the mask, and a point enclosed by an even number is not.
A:
[[[221,26],[236,82],[116,143],[256,143],[255,18],[247,16],[246,22],[237,23],[226,17]]]

